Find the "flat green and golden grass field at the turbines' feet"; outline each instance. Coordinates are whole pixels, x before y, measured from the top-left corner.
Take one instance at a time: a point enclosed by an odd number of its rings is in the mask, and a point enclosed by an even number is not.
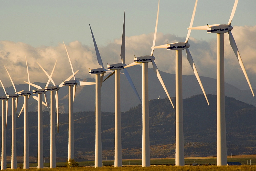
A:
[[[21,156],[20,156],[20,159]],[[102,168],[94,168],[94,161],[87,161],[87,162],[78,162],[80,167],[76,168],[66,168],[65,162],[58,162],[56,163],[57,168],[51,170],[256,170],[256,155],[235,155],[235,156],[228,156],[228,162],[240,162],[242,166],[216,166],[216,157],[188,157],[185,158],[185,165],[184,167],[172,166],[175,165],[175,159],[151,159],[151,166],[152,167],[141,167],[142,160],[141,159],[125,159],[123,160],[123,167],[122,168],[115,168],[113,167],[114,161],[103,161]],[[247,165],[248,162],[248,165]],[[202,164],[203,166],[189,166],[193,163]],[[212,164],[211,166],[207,166],[208,164]],[[251,165],[250,165],[251,164]],[[31,170],[37,170],[37,163],[30,163],[29,164]],[[92,167],[88,167],[92,166]],[[7,167],[10,167],[10,164],[7,164]],[[23,168],[23,163],[17,164],[18,168]],[[49,163],[44,163],[44,167],[48,167]],[[39,169],[39,170],[46,170],[46,169]]]

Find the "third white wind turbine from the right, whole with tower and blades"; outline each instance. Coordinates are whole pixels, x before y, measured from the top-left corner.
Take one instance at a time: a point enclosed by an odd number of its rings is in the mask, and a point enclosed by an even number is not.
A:
[[[157,9],[157,17],[156,17],[156,27],[153,39],[153,47],[155,46],[156,41],[156,32],[157,32],[157,23],[158,23],[158,13],[159,13],[159,1],[158,1],[158,9]],[[149,144],[149,116],[148,116],[148,62],[152,62],[153,70],[155,71],[157,78],[159,79],[162,87],[167,94],[172,106],[172,100],[168,94],[168,91],[165,87],[163,79],[158,71],[158,68],[155,64],[155,57],[153,56],[153,51],[151,51],[151,55],[135,57],[134,62],[124,66],[124,68],[137,65],[142,63],[142,166],[147,167],[150,166],[150,144]],[[174,106],[173,106],[174,108]]]

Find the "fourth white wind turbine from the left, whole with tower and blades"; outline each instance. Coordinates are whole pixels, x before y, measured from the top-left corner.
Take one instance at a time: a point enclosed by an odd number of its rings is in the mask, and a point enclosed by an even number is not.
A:
[[[53,68],[54,70],[54,68]],[[44,168],[44,155],[43,155],[43,112],[42,112],[42,104],[44,104],[42,102],[42,94],[45,95],[45,104],[47,106],[48,112],[50,114],[49,111],[49,106],[48,106],[48,99],[46,96],[46,92],[45,89],[42,89],[40,86],[30,83],[30,82],[26,82],[25,83],[29,84],[30,86],[33,86],[35,88],[37,88],[37,90],[33,90],[33,94],[38,94],[38,149],[37,149],[37,168]],[[50,80],[48,80],[46,87],[48,86]]]

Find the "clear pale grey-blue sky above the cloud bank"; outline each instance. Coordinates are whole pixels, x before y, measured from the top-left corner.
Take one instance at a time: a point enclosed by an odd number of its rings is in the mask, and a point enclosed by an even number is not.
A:
[[[91,24],[98,44],[104,45],[120,38],[124,10],[126,10],[126,36],[148,34],[154,31],[157,12],[156,1],[1,1],[1,40],[24,42],[34,47],[57,46],[62,40],[78,40],[92,44]],[[158,32],[186,36],[195,1],[160,1]],[[233,0],[199,0],[194,26],[226,24]],[[254,26],[255,0],[238,2],[232,25]],[[192,31],[191,37],[209,40],[214,34]]]

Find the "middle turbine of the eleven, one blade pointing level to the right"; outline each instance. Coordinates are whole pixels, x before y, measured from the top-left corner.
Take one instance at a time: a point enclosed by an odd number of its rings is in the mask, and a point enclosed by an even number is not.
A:
[[[70,67],[73,73],[73,78],[74,80],[71,81],[63,81],[62,85],[63,86],[68,86],[68,160],[69,159],[74,159],[74,114],[73,114],[73,102],[76,94],[76,86],[77,84],[79,86],[87,86],[87,85],[93,85],[95,82],[85,82],[85,81],[78,81],[76,80],[74,70],[69,58],[68,50],[66,48],[66,45],[63,41],[64,47],[66,49],[67,55],[68,55],[68,60],[70,63]],[[73,87],[73,91],[71,88]]]

